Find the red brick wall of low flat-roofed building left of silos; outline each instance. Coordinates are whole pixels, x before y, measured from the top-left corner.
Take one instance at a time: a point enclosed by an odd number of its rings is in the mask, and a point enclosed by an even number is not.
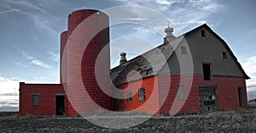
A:
[[[39,94],[38,106],[32,105],[33,93]],[[61,84],[25,84],[24,82],[20,82],[20,116],[28,114],[56,114],[56,93],[65,93]]]

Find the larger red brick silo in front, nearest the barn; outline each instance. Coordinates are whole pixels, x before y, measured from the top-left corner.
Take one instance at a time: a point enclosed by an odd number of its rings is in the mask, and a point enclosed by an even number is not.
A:
[[[69,14],[67,38],[67,114],[111,109],[111,97],[101,90],[96,80],[96,71],[101,72],[99,82],[110,93],[108,15],[92,9]],[[100,67],[96,67],[99,53]]]

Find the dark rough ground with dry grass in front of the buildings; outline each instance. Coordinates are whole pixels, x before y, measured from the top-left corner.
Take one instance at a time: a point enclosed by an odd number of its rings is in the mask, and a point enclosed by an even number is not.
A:
[[[0,132],[256,132],[256,109],[153,117],[141,125],[119,130],[102,128],[83,118],[0,113]]]

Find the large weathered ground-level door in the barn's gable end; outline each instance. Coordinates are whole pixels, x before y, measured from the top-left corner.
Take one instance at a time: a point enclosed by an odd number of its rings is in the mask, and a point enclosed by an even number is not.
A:
[[[218,110],[218,95],[215,86],[199,87],[199,103],[201,113],[213,112]]]

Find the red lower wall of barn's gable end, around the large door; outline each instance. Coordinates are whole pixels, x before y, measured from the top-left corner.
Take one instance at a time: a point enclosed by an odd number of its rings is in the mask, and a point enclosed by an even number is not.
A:
[[[159,75],[159,90],[166,85],[170,75]],[[181,76],[184,81],[180,83]],[[247,108],[247,91],[244,78],[227,78],[213,77],[212,81],[203,81],[202,76],[193,76],[193,83],[189,91],[187,80],[191,79],[191,75],[171,75],[171,87],[168,97],[164,105],[160,108],[160,114],[169,113],[172,107],[172,114],[200,113],[199,104],[199,86],[218,86],[218,110],[237,109],[239,108],[238,87],[242,87],[244,91],[245,107]],[[169,80],[170,82],[170,80]],[[176,98],[177,86],[183,85],[184,99]],[[185,91],[187,90],[187,91]],[[160,91],[160,97],[161,97]],[[175,105],[173,105],[176,98]],[[161,102],[161,101],[160,101]],[[162,101],[163,102],[163,101]],[[183,106],[181,106],[183,105]]]

